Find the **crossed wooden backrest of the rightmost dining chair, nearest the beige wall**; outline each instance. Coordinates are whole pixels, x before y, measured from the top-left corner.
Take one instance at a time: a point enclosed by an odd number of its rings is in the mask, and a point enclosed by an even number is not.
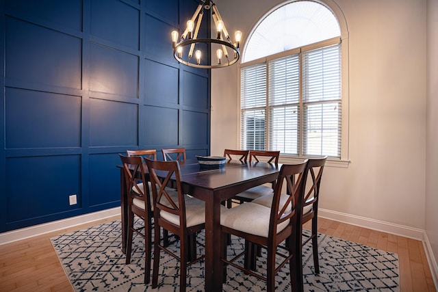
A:
[[[307,162],[307,180],[305,182],[305,195],[302,201],[303,208],[307,213],[318,211],[318,197],[320,195],[320,185],[322,178],[322,171],[326,163],[327,157],[308,159]],[[313,205],[311,208],[310,205]],[[307,207],[307,208],[306,208]],[[306,212],[307,209],[307,212]]]

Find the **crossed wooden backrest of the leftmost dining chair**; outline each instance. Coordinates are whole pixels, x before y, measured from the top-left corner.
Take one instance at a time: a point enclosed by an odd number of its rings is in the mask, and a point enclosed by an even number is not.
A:
[[[146,181],[146,164],[140,156],[125,156],[119,154],[125,172],[125,185],[128,200],[136,198],[144,201],[144,210],[151,210],[149,184]]]

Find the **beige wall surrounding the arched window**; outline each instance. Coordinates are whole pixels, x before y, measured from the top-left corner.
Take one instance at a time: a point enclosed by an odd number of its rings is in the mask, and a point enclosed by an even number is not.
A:
[[[227,29],[238,28],[246,38],[281,2],[216,4]],[[352,223],[404,230],[408,236],[413,230],[413,237],[421,237],[426,227],[426,0],[332,3],[344,12],[349,31],[351,163],[326,168],[320,208]],[[238,70],[211,73],[211,155],[239,146]]]

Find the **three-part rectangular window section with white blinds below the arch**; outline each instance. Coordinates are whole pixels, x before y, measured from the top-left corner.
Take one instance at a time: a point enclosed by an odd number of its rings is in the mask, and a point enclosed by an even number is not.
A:
[[[340,158],[340,48],[303,49],[242,68],[243,149]]]

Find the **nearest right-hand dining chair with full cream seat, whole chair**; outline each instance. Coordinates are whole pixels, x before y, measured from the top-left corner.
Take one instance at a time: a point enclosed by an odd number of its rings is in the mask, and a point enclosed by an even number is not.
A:
[[[275,289],[276,272],[289,263],[292,291],[302,291],[302,270],[299,268],[302,263],[298,249],[298,235],[299,226],[301,226],[300,208],[302,208],[304,181],[307,174],[306,165],[307,161],[281,165],[271,207],[246,202],[221,212],[221,261],[224,263],[224,281],[227,278],[227,265],[232,265],[244,271],[245,274],[265,280],[267,291],[271,292]],[[285,202],[280,200],[283,183],[290,190]],[[228,235],[241,237],[246,242],[244,251],[237,256],[233,254],[231,258],[227,256]],[[250,247],[256,245],[266,249],[267,252],[266,276],[248,268]],[[236,262],[242,259],[242,256],[244,256],[244,265]],[[278,265],[276,258],[282,258]]]

